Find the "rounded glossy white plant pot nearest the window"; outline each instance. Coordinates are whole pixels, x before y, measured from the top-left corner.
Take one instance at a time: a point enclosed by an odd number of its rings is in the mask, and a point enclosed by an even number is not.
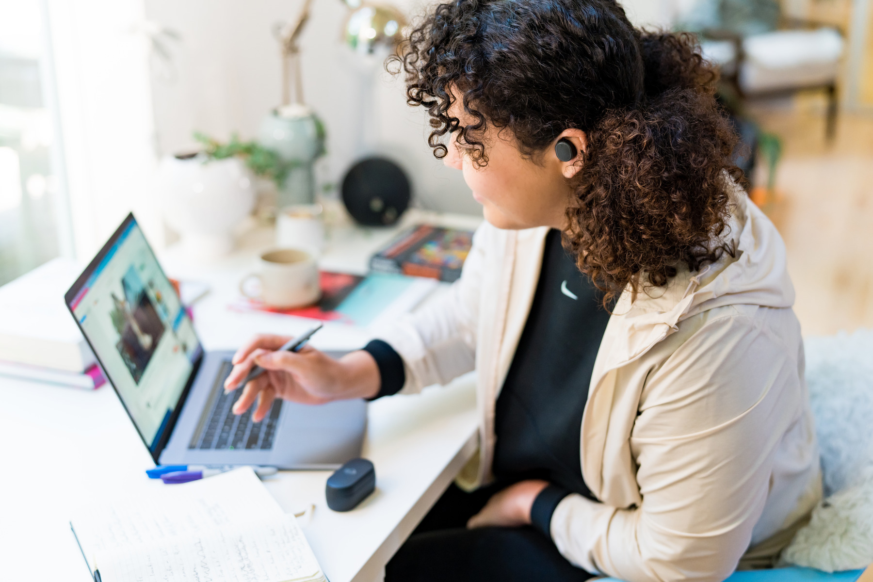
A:
[[[168,155],[158,166],[155,189],[170,228],[185,253],[222,257],[233,250],[232,231],[255,204],[254,179],[237,158]]]

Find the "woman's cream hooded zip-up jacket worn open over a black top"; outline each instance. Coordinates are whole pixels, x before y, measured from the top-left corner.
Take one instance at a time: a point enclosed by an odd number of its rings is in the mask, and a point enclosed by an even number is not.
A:
[[[722,580],[744,554],[777,554],[821,498],[784,244],[743,193],[730,227],[735,257],[625,291],[609,319],[581,424],[599,503],[572,494],[551,522],[560,553],[589,572]],[[459,476],[470,488],[491,479],[495,402],[547,230],[483,224],[450,292],[380,334],[402,356],[403,393],[478,371],[479,454]]]

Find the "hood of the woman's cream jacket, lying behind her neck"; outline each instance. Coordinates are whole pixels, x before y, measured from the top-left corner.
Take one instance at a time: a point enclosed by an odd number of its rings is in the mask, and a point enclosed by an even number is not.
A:
[[[666,288],[624,291],[616,325],[625,326],[622,359],[634,359],[677,331],[678,322],[725,305],[791,307],[794,285],[788,276],[785,243],[773,223],[739,188],[732,195],[726,235],[736,252],[695,272],[680,269]],[[618,346],[616,346],[618,347]]]

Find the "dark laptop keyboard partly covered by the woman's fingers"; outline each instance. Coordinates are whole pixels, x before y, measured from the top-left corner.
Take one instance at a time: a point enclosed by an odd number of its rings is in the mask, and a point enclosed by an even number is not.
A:
[[[222,362],[218,370],[215,384],[212,387],[210,400],[203,409],[203,415],[197,423],[197,430],[191,439],[188,448],[201,449],[237,449],[237,448],[272,448],[273,438],[276,436],[278,417],[282,412],[282,401],[276,399],[272,403],[270,412],[263,421],[251,420],[251,413],[257,403],[252,405],[244,414],[233,414],[232,408],[242,390],[234,390],[231,393],[224,392],[224,380],[230,375],[233,364],[229,360]]]

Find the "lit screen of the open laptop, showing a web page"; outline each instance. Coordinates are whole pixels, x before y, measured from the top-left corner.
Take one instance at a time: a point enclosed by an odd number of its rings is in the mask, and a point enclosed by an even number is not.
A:
[[[132,215],[68,291],[67,306],[154,453],[202,347]]]

